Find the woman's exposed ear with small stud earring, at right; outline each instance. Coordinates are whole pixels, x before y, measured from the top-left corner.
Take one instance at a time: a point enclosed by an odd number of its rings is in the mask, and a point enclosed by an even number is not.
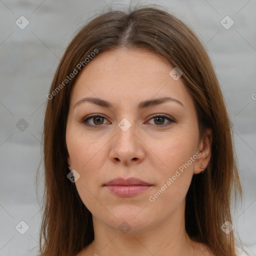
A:
[[[194,174],[198,174],[205,170],[208,166],[211,157],[211,144],[212,144],[212,130],[206,128],[202,137],[199,140],[197,150],[201,153],[198,155],[194,164]],[[203,166],[203,168],[201,168]]]

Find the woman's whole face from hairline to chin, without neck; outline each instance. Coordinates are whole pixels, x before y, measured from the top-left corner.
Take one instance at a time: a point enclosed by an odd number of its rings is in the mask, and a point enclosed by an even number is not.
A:
[[[169,74],[172,69],[146,50],[111,49],[98,53],[76,78],[67,162],[80,175],[75,185],[93,221],[138,231],[182,216],[192,175],[208,161],[198,152],[192,97]],[[110,182],[130,177],[144,183]]]

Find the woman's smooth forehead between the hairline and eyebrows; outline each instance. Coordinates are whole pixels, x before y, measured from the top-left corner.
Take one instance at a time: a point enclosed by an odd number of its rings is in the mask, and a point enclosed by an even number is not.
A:
[[[144,49],[99,52],[76,78],[71,102],[84,96],[104,97],[118,104],[154,96],[176,96],[187,101],[190,95],[181,79],[169,75],[172,69],[165,59]]]

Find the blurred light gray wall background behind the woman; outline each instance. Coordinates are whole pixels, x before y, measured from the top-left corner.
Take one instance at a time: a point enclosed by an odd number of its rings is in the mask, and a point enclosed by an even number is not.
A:
[[[137,3],[142,2],[114,0],[112,7]],[[256,93],[256,1],[145,3],[160,4],[190,25],[213,62],[235,131],[245,195],[234,213],[233,231],[239,234],[248,255],[256,255],[256,100],[252,98]],[[35,175],[42,152],[46,94],[59,59],[77,29],[107,5],[111,1],[0,0],[0,256],[36,255],[42,167],[38,198]],[[24,29],[15,24],[21,15],[29,21]],[[229,29],[220,23],[226,15],[234,21]],[[15,229],[21,220],[29,226],[23,235]]]

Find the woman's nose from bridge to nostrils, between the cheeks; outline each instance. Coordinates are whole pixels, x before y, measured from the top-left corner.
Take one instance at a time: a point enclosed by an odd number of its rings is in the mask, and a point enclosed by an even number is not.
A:
[[[126,127],[123,128],[122,124],[126,125]],[[116,134],[111,140],[112,144],[109,152],[109,157],[113,162],[132,165],[144,159],[144,143],[136,131],[135,124],[129,126],[128,129],[125,122],[120,122],[116,126]]]

